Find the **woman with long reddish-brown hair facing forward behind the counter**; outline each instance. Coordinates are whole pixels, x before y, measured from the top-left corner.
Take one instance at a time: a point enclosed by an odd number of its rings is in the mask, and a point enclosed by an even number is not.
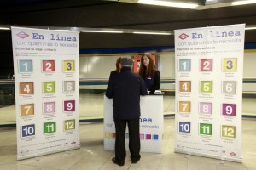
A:
[[[150,93],[160,89],[160,71],[157,70],[151,54],[143,54],[139,75],[143,77]]]

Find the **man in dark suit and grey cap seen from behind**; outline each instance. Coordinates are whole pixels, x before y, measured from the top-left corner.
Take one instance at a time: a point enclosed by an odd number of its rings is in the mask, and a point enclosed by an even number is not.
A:
[[[129,129],[129,149],[131,162],[140,160],[139,117],[140,95],[148,94],[143,78],[131,71],[133,60],[123,58],[119,74],[110,77],[106,96],[113,98],[113,119],[115,124],[115,157],[112,161],[119,166],[125,164],[125,128]]]

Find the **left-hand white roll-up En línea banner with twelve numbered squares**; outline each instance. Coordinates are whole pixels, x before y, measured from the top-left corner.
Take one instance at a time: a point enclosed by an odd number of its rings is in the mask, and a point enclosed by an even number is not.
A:
[[[79,33],[11,31],[17,159],[79,148]]]

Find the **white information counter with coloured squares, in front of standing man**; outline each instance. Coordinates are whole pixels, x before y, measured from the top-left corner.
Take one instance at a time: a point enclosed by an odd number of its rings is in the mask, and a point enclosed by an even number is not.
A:
[[[141,151],[162,153],[163,141],[163,95],[141,96],[140,139]],[[115,127],[113,100],[104,95],[104,149],[114,150]],[[129,150],[128,127],[125,133],[126,150]]]

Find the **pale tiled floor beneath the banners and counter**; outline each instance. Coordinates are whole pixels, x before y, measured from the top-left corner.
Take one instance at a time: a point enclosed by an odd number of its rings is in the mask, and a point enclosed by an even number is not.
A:
[[[70,150],[22,161],[16,161],[15,128],[2,128],[0,131],[0,170],[256,170],[255,119],[242,121],[243,163],[222,162],[201,156],[174,153],[174,119],[165,118],[164,123],[163,153],[142,153],[142,159],[137,164],[131,164],[129,153],[127,153],[124,167],[112,163],[113,151],[103,149],[102,123],[80,125],[81,148],[79,150]],[[91,135],[92,133],[94,135]]]

